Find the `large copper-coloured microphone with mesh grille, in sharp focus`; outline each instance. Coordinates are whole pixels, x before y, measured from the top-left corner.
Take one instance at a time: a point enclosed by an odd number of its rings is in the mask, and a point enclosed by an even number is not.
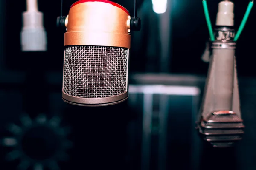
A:
[[[62,99],[72,105],[105,106],[128,98],[131,31],[140,30],[140,18],[109,0],[79,0],[65,26]]]

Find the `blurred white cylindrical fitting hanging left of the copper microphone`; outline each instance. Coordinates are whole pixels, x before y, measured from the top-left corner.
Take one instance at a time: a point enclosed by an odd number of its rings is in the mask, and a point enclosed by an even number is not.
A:
[[[23,27],[20,33],[22,51],[47,51],[47,34],[44,29],[43,13],[38,11],[37,0],[26,0],[23,12]]]

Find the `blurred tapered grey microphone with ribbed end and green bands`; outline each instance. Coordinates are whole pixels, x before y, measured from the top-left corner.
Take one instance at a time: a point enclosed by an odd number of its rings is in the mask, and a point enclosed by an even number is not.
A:
[[[231,147],[242,139],[244,124],[241,118],[239,87],[236,73],[236,40],[246,23],[253,2],[235,36],[234,4],[229,0],[218,5],[215,35],[212,34],[206,1],[203,0],[210,33],[212,53],[196,128],[213,147]],[[249,11],[249,12],[248,12]]]

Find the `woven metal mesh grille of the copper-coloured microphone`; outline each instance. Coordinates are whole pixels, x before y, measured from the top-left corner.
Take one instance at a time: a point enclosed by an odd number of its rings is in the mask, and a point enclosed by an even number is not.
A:
[[[102,98],[126,91],[128,48],[70,46],[65,49],[66,94],[81,98]]]

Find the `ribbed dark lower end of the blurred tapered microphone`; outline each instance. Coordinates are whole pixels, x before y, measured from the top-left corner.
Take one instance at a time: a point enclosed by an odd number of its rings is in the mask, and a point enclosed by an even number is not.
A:
[[[218,111],[201,117],[196,128],[213,147],[232,147],[244,134],[243,120],[232,111]]]

